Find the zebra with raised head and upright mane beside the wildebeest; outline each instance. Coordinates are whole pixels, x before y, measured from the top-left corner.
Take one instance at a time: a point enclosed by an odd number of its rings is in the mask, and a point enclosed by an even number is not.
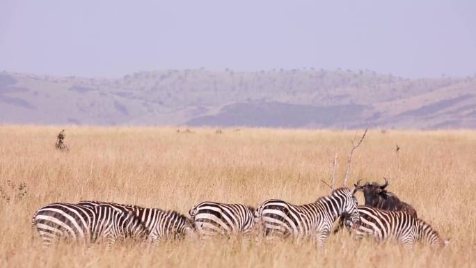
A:
[[[358,223],[357,199],[354,191],[335,189],[330,196],[323,196],[315,203],[292,205],[283,200],[265,201],[255,212],[256,221],[264,227],[266,235],[293,235],[298,240],[315,237],[324,246],[335,219],[341,214],[351,215],[351,222]]]

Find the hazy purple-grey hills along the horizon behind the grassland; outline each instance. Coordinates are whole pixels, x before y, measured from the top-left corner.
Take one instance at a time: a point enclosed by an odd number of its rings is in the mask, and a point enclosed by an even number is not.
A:
[[[313,68],[120,79],[0,72],[0,123],[476,128],[476,78]]]

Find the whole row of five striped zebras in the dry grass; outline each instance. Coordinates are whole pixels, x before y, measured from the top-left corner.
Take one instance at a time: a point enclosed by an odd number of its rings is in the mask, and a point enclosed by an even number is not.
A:
[[[407,247],[418,241],[446,244],[428,223],[406,211],[358,206],[354,194],[365,186],[354,185],[354,190],[335,189],[331,195],[306,205],[271,199],[254,209],[241,204],[203,202],[189,210],[190,218],[175,211],[101,201],[53,203],[35,212],[31,223],[44,246],[66,239],[85,244],[104,242],[110,249],[125,238],[159,244],[164,239],[186,236],[249,238],[253,233],[269,238],[294,237],[298,241],[313,239],[324,246],[337,219],[338,228],[345,226],[358,238],[395,237]]]

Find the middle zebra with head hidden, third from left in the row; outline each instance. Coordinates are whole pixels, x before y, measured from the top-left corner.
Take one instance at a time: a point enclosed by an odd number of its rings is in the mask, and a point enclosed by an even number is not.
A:
[[[241,204],[223,204],[202,202],[189,211],[193,226],[200,237],[220,234],[229,237],[232,234],[248,235],[253,227],[253,207]]]

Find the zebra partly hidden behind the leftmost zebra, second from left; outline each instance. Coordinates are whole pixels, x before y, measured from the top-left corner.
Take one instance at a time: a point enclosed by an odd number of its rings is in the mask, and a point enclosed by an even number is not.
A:
[[[150,233],[150,241],[154,241],[156,245],[163,239],[182,238],[191,233],[190,220],[173,210],[164,211],[158,208],[139,207],[136,205],[124,205],[103,201],[81,201],[77,203],[86,207],[97,207],[98,205],[111,205],[117,209],[126,212],[132,212],[143,226]]]

